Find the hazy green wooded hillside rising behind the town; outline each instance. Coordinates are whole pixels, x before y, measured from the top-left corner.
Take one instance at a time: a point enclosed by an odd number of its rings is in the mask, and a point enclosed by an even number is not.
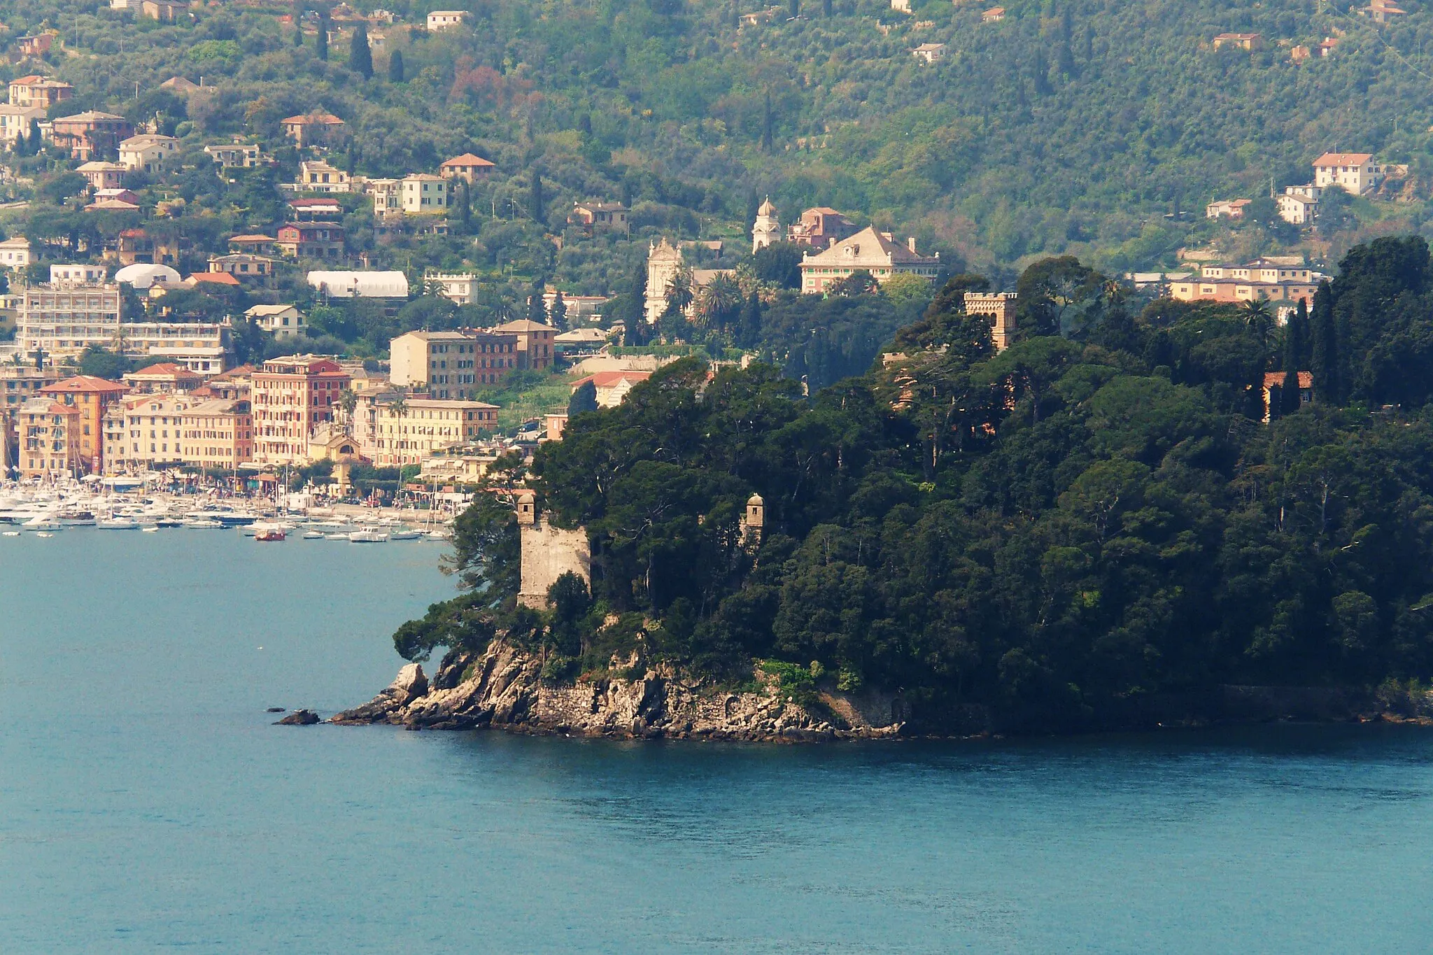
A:
[[[63,109],[163,115],[195,166],[181,192],[199,205],[182,220],[206,209],[215,232],[271,222],[275,196],[271,183],[221,182],[199,146],[244,135],[277,147],[278,120],[314,107],[348,122],[353,147],[335,162],[357,172],[433,169],[466,149],[493,159],[471,236],[388,249],[354,222],[355,251],[400,266],[471,262],[620,291],[648,236],[739,245],[770,193],[785,220],[835,206],[997,283],[1059,253],[1121,272],[1207,239],[1231,253],[1297,242],[1277,222],[1230,232],[1202,205],[1307,182],[1310,160],[1334,147],[1410,163],[1412,200],[1357,200],[1310,251],[1337,259],[1360,238],[1424,228],[1433,37],[1417,10],[1380,26],[1313,0],[1043,0],[982,23],[980,4],[946,0],[917,0],[910,16],[878,0],[791,0],[742,24],[758,4],[470,0],[463,29],[428,34],[426,4],[387,6],[401,23],[358,60],[341,21],[324,50],[315,13],[302,36],[279,23],[310,4],[201,7],[176,24],[93,0],[0,9],[11,36],[59,31],[52,69],[77,89]],[[1260,31],[1265,47],[1214,50],[1227,30]],[[1326,36],[1338,36],[1333,56],[1290,60],[1291,44],[1317,50]],[[921,64],[910,53],[921,42],[949,54]],[[158,89],[176,74],[214,90]],[[275,155],[289,175],[294,150]],[[638,235],[559,249],[545,233],[583,198],[631,202]]]

